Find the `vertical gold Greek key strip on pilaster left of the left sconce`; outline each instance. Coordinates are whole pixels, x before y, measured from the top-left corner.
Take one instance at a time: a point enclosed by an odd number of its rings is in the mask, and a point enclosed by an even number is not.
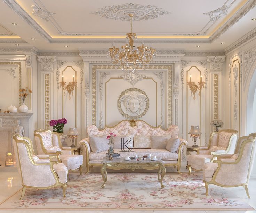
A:
[[[45,129],[50,129],[50,74],[45,74]]]

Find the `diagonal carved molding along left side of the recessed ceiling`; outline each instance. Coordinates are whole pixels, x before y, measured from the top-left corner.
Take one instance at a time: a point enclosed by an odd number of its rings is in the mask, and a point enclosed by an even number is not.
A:
[[[43,30],[43,28],[35,22],[26,11],[19,6],[14,0],[3,0],[16,14],[18,14],[27,24],[29,24],[34,30],[36,30],[47,42],[50,43],[51,36]]]

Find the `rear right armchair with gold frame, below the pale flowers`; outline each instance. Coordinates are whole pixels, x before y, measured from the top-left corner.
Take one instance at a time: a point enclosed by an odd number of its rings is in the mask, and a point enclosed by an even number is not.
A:
[[[203,165],[211,162],[213,155],[234,154],[237,143],[237,131],[233,129],[220,130],[210,135],[208,147],[199,147],[194,150],[196,155],[187,156],[187,169],[200,172]]]

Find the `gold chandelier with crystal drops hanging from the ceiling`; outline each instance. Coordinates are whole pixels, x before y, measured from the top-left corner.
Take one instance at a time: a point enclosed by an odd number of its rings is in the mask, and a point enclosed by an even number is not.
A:
[[[132,30],[133,14],[129,14],[129,16],[131,18],[131,32],[126,34],[125,46],[119,49],[115,47],[115,43],[113,42],[113,46],[109,48],[109,55],[111,62],[116,64],[116,68],[121,66],[122,71],[132,68],[132,72],[134,72],[137,65],[143,69],[147,68],[147,65],[152,61],[155,55],[155,49],[152,48],[152,44],[150,48],[144,46],[143,40],[141,46],[137,47],[137,49],[133,49],[135,47],[133,46],[133,42],[134,39],[137,40],[137,36]]]

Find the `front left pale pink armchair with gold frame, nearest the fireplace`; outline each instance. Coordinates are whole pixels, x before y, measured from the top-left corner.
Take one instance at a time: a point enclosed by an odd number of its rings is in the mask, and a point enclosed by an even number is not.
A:
[[[39,159],[33,154],[31,140],[26,137],[13,135],[15,141],[14,152],[18,171],[22,181],[22,195],[26,188],[49,189],[56,186],[63,188],[63,197],[66,197],[67,167],[63,163],[50,162],[50,159]]]

